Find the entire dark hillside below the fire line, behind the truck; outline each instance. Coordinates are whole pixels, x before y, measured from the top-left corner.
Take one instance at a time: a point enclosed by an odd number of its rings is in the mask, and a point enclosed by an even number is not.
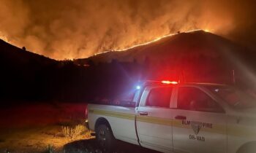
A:
[[[145,79],[226,84],[236,79],[239,87],[255,88],[255,58],[255,52],[204,31],[74,62],[52,60],[0,41],[0,102],[116,99],[129,95]]]

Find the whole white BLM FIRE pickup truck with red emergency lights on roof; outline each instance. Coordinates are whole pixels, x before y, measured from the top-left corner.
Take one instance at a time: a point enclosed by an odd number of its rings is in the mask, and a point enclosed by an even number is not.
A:
[[[255,153],[255,97],[228,85],[147,82],[132,105],[89,104],[97,141],[115,140],[159,152]]]

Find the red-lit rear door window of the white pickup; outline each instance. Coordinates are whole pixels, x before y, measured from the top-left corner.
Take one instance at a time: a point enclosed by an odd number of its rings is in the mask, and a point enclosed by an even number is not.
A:
[[[158,87],[152,89],[148,95],[146,106],[169,108],[172,89],[172,87]]]

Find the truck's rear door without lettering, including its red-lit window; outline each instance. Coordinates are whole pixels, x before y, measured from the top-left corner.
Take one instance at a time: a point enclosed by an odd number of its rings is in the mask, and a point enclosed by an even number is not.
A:
[[[140,144],[160,152],[170,152],[172,121],[170,99],[173,87],[147,87],[138,107],[137,125]]]

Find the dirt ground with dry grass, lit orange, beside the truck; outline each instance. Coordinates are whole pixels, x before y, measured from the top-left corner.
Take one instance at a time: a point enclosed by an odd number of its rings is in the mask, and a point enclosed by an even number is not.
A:
[[[87,153],[99,149],[86,128],[86,103],[30,104],[0,109],[0,152]],[[63,127],[84,129],[70,138]],[[114,152],[154,152],[118,141]]]

